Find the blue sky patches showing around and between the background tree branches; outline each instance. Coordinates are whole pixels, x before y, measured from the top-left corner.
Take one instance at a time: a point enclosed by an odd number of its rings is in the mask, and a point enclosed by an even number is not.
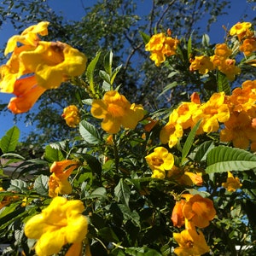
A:
[[[135,0],[136,1],[136,0]],[[55,10],[56,13],[61,13],[66,17],[67,20],[79,20],[84,15],[83,7],[90,7],[94,3],[95,0],[48,0],[49,6]],[[151,1],[137,1],[140,3],[138,6],[139,12],[145,12],[145,10],[149,10],[151,8]],[[148,4],[150,3],[150,4]],[[226,12],[229,15],[224,15],[218,18],[218,21],[212,25],[210,38],[211,43],[222,43],[224,39],[224,29],[222,26],[226,26],[230,28],[236,24],[236,22],[240,21],[243,14],[247,14],[247,20],[251,21],[255,17],[255,12],[252,11],[251,7],[255,7],[255,3],[251,3],[251,5],[247,4],[246,0],[233,0],[231,1],[231,8],[227,9]],[[207,20],[207,17],[205,18]],[[202,32],[205,29],[205,24],[201,24]],[[10,24],[4,24],[3,29],[1,31],[0,37],[0,47],[7,42],[9,37],[14,35],[16,32],[12,28]],[[9,102],[9,98],[12,95],[0,93],[0,104]],[[9,112],[0,113],[0,138],[3,137],[3,134],[9,130],[13,125],[17,125],[21,131],[21,137],[24,136],[27,132],[32,131],[34,127],[31,124],[25,123],[23,120],[14,123],[13,114]]]

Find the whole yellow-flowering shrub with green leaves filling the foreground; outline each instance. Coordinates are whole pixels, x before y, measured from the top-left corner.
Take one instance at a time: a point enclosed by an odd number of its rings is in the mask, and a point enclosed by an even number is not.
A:
[[[209,55],[198,56],[191,38],[142,32],[157,67],[171,73],[185,63],[178,72],[216,85],[154,113],[119,92],[121,67],[113,67],[111,51],[99,83],[101,53],[86,66],[78,49],[39,38],[48,26],[30,26],[7,44],[12,55],[1,67],[0,88],[17,96],[9,109],[25,112],[38,88],[44,93],[67,80],[90,90],[90,98],[63,109],[79,137],[50,143],[41,159],[15,154],[17,127],[2,137],[3,174],[13,165],[18,174],[1,178],[0,236],[9,243],[3,255],[220,255],[237,246],[255,252],[256,84],[230,88],[243,67],[255,65],[251,23],[237,23],[226,46],[208,42]],[[82,74],[85,80],[73,79]]]

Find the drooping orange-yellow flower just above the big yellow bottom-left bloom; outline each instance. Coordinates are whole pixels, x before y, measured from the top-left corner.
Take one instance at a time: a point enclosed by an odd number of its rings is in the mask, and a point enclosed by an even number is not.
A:
[[[62,160],[55,161],[50,166],[50,172],[53,172],[49,177],[49,196],[55,197],[59,194],[70,194],[72,187],[68,177],[71,175],[74,169],[79,166],[79,162],[75,160]]]

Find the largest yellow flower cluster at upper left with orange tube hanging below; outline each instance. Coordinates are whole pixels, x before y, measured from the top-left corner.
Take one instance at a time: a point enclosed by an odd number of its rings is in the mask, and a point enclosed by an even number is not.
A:
[[[0,67],[0,91],[15,94],[8,106],[13,113],[28,111],[45,90],[84,73],[87,59],[78,49],[40,40],[38,35],[47,35],[48,26],[48,21],[30,26],[6,45],[4,54],[12,55]]]

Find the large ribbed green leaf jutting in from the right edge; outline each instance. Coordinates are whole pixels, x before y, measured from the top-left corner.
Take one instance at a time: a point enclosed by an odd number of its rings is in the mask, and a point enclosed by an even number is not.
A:
[[[207,173],[256,168],[256,155],[239,148],[218,146],[207,154]]]

